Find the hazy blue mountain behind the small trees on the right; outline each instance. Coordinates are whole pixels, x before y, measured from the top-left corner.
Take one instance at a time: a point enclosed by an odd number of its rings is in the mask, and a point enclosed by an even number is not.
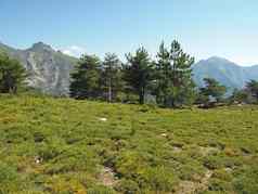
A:
[[[203,86],[204,78],[215,78],[230,90],[241,89],[250,79],[258,80],[258,65],[243,67],[225,59],[212,56],[193,66],[194,81]]]

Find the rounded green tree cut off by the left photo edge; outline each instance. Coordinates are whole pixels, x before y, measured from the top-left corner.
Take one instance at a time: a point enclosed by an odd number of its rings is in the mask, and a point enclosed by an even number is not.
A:
[[[0,55],[0,93],[16,93],[26,79],[25,68],[18,61]]]

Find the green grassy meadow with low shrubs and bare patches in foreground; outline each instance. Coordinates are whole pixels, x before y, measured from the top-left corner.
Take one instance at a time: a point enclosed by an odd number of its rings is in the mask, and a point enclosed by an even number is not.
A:
[[[0,193],[257,194],[257,118],[1,95]]]

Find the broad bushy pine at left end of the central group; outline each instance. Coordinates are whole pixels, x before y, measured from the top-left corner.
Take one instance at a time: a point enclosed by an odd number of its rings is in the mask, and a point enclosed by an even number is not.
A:
[[[70,96],[75,99],[98,99],[100,91],[101,61],[95,55],[83,55],[75,72],[70,74]]]

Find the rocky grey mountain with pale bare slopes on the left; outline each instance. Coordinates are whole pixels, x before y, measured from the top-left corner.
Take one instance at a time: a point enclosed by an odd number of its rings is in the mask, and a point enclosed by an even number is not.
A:
[[[17,50],[0,43],[0,52],[18,60],[28,72],[28,85],[44,93],[68,95],[69,72],[77,59],[53,50],[50,46],[38,42],[26,50]]]

